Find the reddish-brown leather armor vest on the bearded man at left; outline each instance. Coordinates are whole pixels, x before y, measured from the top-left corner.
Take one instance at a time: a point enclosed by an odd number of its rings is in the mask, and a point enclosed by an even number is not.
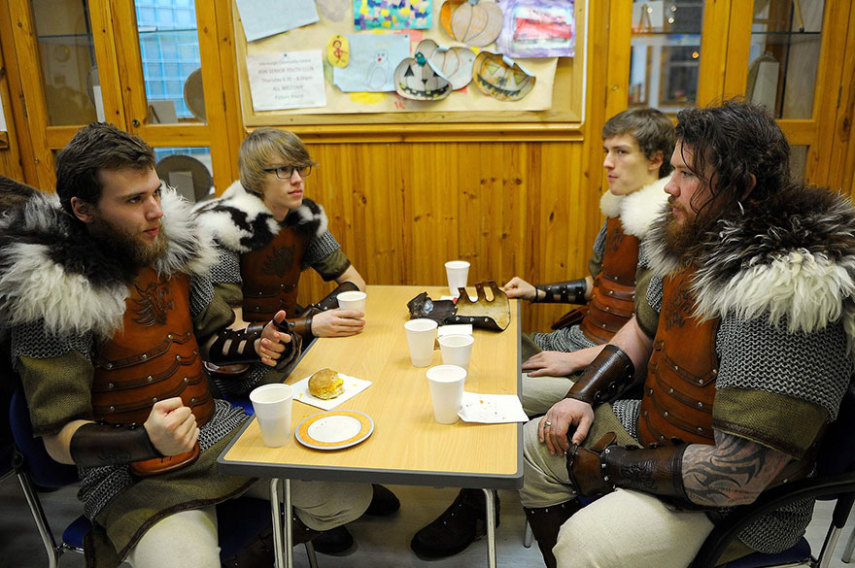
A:
[[[155,402],[180,396],[201,426],[214,400],[190,318],[190,278],[159,278],[143,268],[125,305],[122,330],[96,347],[95,419],[142,424]]]

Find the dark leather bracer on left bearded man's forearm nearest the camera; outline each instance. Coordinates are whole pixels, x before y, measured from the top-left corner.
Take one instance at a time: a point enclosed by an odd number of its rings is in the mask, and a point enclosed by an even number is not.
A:
[[[127,464],[162,458],[142,424],[90,422],[71,436],[71,459],[84,467]]]

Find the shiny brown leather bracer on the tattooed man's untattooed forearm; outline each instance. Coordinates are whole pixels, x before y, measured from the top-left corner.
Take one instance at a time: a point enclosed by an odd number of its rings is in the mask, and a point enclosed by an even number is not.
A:
[[[620,347],[606,345],[585,367],[564,398],[575,398],[596,406],[615,400],[635,381],[635,365]]]

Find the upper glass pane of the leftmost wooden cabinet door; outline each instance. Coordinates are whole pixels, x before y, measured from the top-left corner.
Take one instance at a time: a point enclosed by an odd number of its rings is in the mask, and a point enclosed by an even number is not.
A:
[[[49,125],[68,126],[103,120],[87,2],[32,0],[30,7]]]

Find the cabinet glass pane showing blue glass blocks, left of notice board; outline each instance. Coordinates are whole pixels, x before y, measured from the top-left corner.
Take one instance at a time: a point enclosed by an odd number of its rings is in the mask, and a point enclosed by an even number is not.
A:
[[[205,122],[194,0],[136,0],[147,124]]]

